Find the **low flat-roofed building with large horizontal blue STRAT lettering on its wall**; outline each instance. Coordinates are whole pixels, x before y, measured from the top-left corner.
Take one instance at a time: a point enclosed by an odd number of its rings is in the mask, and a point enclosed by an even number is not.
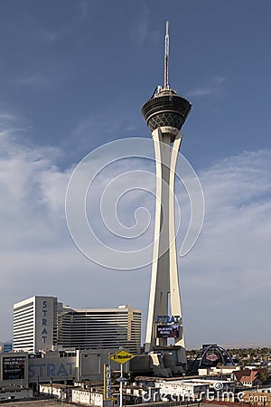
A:
[[[0,354],[0,386],[17,386],[39,383],[73,383],[74,381],[103,380],[104,365],[108,355],[118,349],[84,351],[43,351],[38,353],[12,352]],[[112,370],[119,370],[119,364],[110,362]],[[127,372],[129,362],[124,365]]]

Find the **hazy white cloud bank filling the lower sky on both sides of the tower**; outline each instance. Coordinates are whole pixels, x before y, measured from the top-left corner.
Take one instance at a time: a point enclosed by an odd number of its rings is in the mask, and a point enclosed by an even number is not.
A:
[[[57,166],[58,148],[25,147],[16,141],[12,129],[20,126],[15,117],[9,120],[7,116],[0,115],[5,121],[0,154],[0,320],[5,329],[0,339],[12,335],[12,304],[34,294],[55,295],[75,307],[129,303],[143,308],[145,318],[150,268],[104,270],[79,253],[64,217],[71,169],[61,171]],[[135,164],[126,162],[123,168],[137,169]],[[206,218],[200,240],[179,261],[190,347],[205,341],[262,344],[269,340],[270,166],[271,152],[264,150],[227,157],[201,171]],[[145,168],[150,169],[149,165]],[[120,172],[118,163],[112,175]],[[110,179],[108,174],[100,185]],[[143,184],[151,189],[145,179]],[[127,179],[126,185],[129,187]],[[93,194],[98,192],[94,188]],[[177,193],[184,227],[188,203],[179,186]],[[90,198],[98,200],[96,195]],[[132,225],[139,204],[149,205],[153,213],[152,200],[150,194],[127,194],[120,203],[121,220]],[[142,237],[149,238],[149,232]],[[126,242],[123,244],[125,247]],[[180,248],[180,241],[178,245]]]

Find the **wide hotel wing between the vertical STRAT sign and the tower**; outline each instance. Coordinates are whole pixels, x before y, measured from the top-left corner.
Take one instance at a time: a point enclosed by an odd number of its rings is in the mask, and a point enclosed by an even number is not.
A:
[[[62,308],[58,316],[58,342],[63,348],[110,349],[126,347],[139,354],[141,311],[118,308]]]

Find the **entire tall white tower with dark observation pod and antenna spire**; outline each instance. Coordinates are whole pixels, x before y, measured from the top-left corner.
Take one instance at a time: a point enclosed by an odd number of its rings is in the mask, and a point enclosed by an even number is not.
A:
[[[145,352],[172,350],[177,355],[177,363],[184,367],[186,352],[175,244],[174,183],[182,142],[181,128],[192,105],[177,95],[168,83],[168,22],[164,48],[164,88],[158,86],[142,108],[154,139],[156,166],[154,256]]]

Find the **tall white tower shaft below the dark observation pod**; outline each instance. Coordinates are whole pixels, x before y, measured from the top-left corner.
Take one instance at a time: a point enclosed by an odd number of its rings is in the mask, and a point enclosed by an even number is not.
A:
[[[182,328],[182,310],[179,291],[175,244],[174,183],[175,168],[182,133],[164,133],[164,128],[153,131],[156,164],[156,206],[154,226],[154,261],[146,328],[145,351],[155,346],[166,346],[167,338],[157,337],[157,323],[174,317],[179,326],[179,336],[174,338],[180,346],[179,362],[185,364],[185,346]],[[166,128],[168,131],[169,128]],[[172,131],[174,129],[172,128]],[[157,321],[157,319],[160,320]]]

